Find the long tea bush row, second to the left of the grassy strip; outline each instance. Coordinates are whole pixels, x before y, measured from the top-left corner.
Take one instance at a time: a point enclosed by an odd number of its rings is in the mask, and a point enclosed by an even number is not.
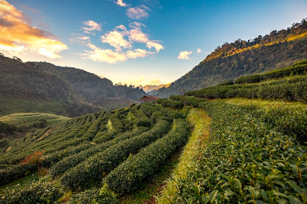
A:
[[[150,131],[124,140],[113,148],[108,148],[101,153],[95,154],[69,169],[64,173],[61,182],[63,185],[69,186],[73,191],[78,188],[87,188],[93,182],[101,180],[106,173],[112,171],[128,158],[129,154],[137,153],[141,148],[164,136],[168,129],[169,123],[160,120]]]

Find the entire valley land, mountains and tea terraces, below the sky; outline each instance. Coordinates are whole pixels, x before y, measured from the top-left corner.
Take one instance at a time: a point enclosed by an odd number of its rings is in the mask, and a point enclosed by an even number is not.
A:
[[[1,55],[0,203],[306,203],[306,29],[219,46],[143,103]]]

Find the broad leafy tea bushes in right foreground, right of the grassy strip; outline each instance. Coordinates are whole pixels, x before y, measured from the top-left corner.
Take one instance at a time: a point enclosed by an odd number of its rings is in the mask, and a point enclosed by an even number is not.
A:
[[[204,100],[198,107],[212,118],[211,135],[198,165],[177,180],[173,203],[306,202],[305,146],[255,106]]]

